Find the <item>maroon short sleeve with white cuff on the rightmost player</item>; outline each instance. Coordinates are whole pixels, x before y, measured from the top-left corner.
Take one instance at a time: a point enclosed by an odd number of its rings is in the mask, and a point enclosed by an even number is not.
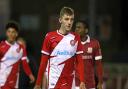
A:
[[[96,41],[94,53],[95,53],[95,60],[102,59],[101,48],[100,48],[100,44],[98,41]]]

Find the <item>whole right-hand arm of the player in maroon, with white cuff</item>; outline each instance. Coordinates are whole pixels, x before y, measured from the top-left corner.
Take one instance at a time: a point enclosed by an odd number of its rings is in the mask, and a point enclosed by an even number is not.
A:
[[[100,44],[97,41],[95,46],[95,64],[96,64],[96,74],[98,77],[98,89],[102,89],[103,83],[103,66],[102,66],[102,54]]]

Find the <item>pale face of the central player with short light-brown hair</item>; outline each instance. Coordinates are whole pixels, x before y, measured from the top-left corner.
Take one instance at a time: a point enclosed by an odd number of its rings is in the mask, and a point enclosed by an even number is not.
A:
[[[61,27],[66,31],[71,30],[73,22],[74,22],[74,15],[64,14],[60,18]]]

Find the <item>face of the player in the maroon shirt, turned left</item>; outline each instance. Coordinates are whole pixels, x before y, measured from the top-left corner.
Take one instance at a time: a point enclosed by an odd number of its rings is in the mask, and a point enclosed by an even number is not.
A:
[[[88,32],[88,29],[85,28],[84,24],[81,22],[76,23],[75,32],[80,36],[85,36]]]

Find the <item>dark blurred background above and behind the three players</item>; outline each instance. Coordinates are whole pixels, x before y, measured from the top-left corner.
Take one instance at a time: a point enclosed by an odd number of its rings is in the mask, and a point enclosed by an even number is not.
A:
[[[91,24],[91,21],[94,22],[94,24],[90,25],[90,35],[100,41],[105,68],[106,65],[108,66],[113,63],[117,64],[117,66],[119,63],[128,63],[128,0],[5,1],[8,3],[5,7],[8,6],[7,12],[9,13],[6,14],[0,11],[0,19],[2,19],[2,22],[0,21],[0,39],[5,38],[4,25],[8,20],[16,20],[20,23],[20,36],[27,42],[30,65],[35,76],[40,63],[40,51],[43,39],[47,32],[58,28],[58,15],[63,6],[72,7],[75,10],[75,20],[87,20],[89,24]],[[4,16],[5,18],[3,19]],[[6,19],[6,17],[8,17],[8,19]],[[100,29],[100,26],[103,25],[105,21],[108,21],[107,25],[105,24],[105,26],[109,28],[108,30]],[[108,34],[106,35],[106,33],[102,33],[102,31],[108,32]],[[102,35],[106,35],[107,39],[102,37]],[[20,89],[27,89],[22,87],[23,86],[21,86]],[[32,87],[32,85],[30,85],[30,87]],[[30,89],[30,87],[28,89]]]

